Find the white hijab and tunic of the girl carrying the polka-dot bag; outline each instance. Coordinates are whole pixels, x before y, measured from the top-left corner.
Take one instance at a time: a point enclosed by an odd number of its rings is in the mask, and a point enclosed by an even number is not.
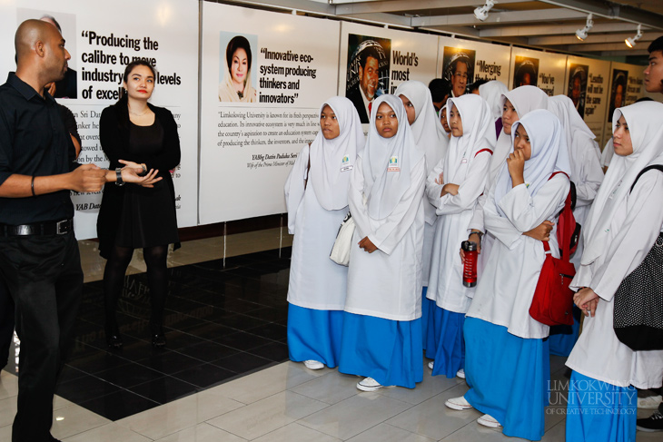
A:
[[[663,350],[633,351],[613,329],[614,294],[621,281],[647,256],[663,224],[663,175],[647,172],[663,164],[663,104],[635,103],[615,110],[624,115],[634,152],[615,155],[586,221],[585,251],[571,288],[589,287],[599,295],[596,316],[585,318],[567,366],[589,378],[618,386],[658,388]],[[614,124],[614,123],[613,123]]]

